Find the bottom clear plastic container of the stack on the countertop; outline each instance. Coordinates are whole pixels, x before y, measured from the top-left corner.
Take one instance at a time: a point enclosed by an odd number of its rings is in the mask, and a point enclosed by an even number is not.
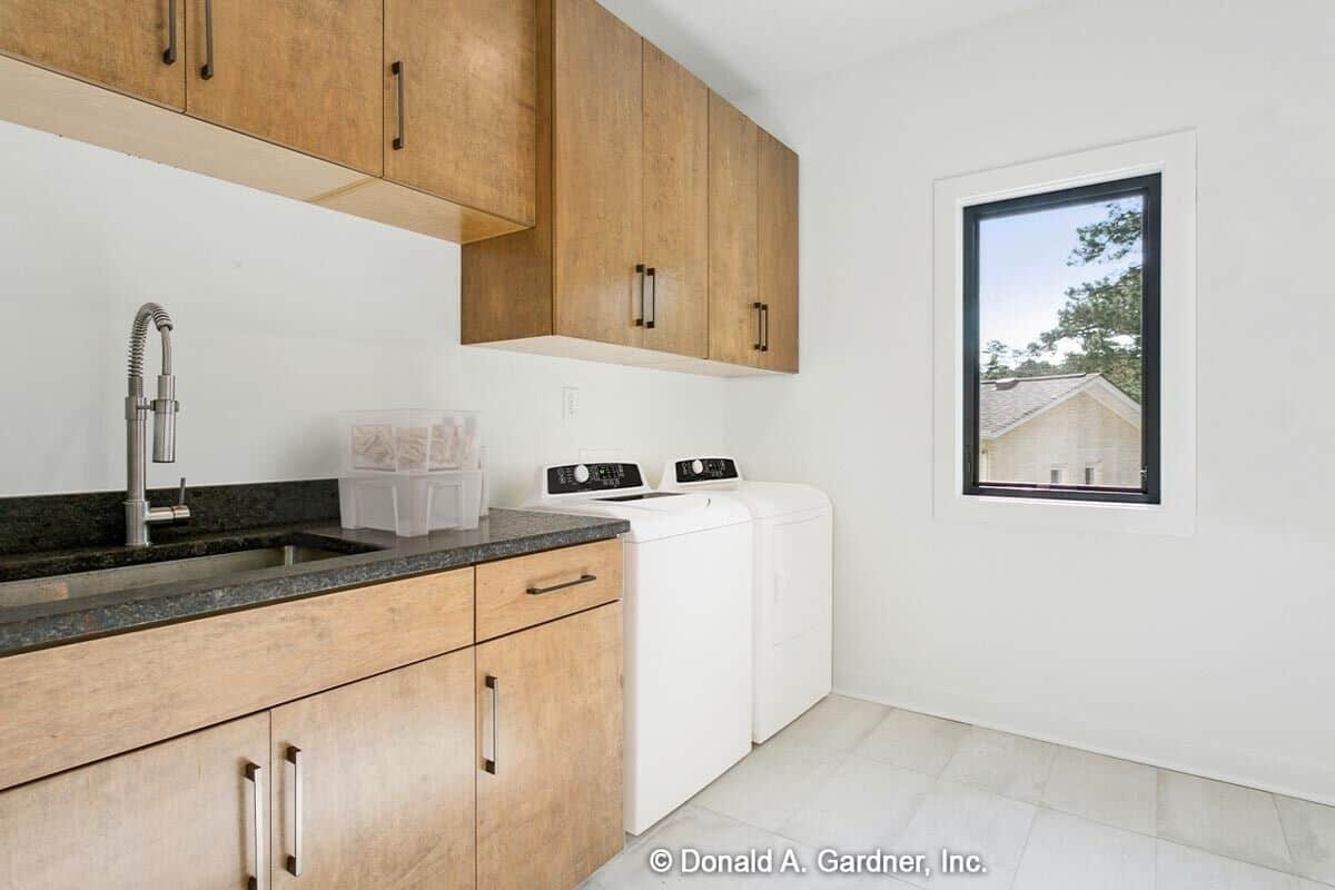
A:
[[[360,474],[338,480],[344,528],[417,538],[442,528],[477,528],[482,471]]]

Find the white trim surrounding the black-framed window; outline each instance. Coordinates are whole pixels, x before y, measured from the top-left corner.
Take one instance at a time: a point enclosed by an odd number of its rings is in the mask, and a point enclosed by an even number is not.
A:
[[[1160,504],[965,496],[964,208],[1163,173],[1160,230]],[[1196,133],[936,181],[933,515],[944,522],[1192,535],[1196,528]]]

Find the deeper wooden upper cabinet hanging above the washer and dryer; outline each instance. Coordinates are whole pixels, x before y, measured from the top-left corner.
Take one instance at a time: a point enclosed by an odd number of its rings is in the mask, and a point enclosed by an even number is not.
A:
[[[538,221],[465,248],[463,342],[796,371],[797,156],[595,0],[538,36]]]

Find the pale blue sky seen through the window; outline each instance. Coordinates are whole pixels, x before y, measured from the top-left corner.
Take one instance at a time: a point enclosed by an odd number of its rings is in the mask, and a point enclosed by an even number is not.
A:
[[[1139,197],[1123,199],[1136,201]],[[1108,201],[983,220],[979,238],[979,346],[1001,340],[1023,350],[1051,330],[1068,287],[1116,274],[1139,262],[1067,266],[1079,243],[1076,230],[1107,216]],[[1060,351],[1069,352],[1075,343]],[[985,359],[984,359],[985,360]]]

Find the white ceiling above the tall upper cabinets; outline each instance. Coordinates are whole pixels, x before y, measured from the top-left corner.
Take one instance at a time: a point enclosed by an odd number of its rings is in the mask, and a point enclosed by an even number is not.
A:
[[[1045,0],[599,0],[728,99]]]

